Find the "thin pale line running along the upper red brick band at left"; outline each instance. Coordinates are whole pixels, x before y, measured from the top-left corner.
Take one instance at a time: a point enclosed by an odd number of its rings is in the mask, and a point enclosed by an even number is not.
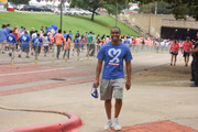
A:
[[[35,72],[23,72],[23,73],[13,73],[13,74],[1,74],[0,77],[2,77],[2,76],[11,76],[11,75],[24,75],[24,74],[35,74],[35,73],[44,73],[44,72],[54,72],[54,70],[67,69],[67,68],[73,68],[73,67],[55,68],[55,69],[45,69],[45,70],[35,70]]]

